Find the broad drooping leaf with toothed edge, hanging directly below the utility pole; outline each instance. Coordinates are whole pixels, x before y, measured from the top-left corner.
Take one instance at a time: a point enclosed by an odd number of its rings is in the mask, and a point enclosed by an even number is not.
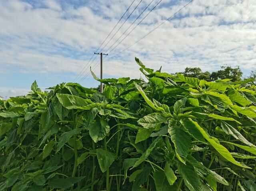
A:
[[[110,127],[103,118],[100,118],[100,121],[96,120],[89,125],[89,133],[95,143],[104,139],[109,133],[109,130]]]

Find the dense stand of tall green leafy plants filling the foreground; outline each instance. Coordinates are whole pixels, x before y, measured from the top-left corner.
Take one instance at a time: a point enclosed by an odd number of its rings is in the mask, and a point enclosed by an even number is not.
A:
[[[252,79],[74,83],[0,101],[0,191],[256,189]]]

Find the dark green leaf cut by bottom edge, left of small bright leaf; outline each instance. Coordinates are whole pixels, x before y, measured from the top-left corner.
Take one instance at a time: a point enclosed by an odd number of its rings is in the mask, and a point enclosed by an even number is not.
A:
[[[156,185],[156,191],[171,191],[173,187],[170,186],[166,174],[163,171],[155,171],[154,172],[154,181]]]

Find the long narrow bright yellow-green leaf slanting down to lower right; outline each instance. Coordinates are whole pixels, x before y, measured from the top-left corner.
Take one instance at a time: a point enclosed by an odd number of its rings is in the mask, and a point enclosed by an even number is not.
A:
[[[219,143],[217,143],[215,139],[212,138],[202,127],[200,127],[200,125],[198,125],[196,121],[193,121],[192,119],[189,119],[189,121],[190,121],[190,126],[198,129],[200,133],[203,135],[203,137],[212,145],[212,147],[214,147],[214,149],[216,149],[216,151],[218,151],[218,153],[220,153],[220,155],[222,155],[222,157],[224,157],[226,160],[230,161],[234,165],[238,165],[240,167],[250,169],[250,167],[236,161],[234,157],[232,157],[228,149],[226,149],[223,145],[220,145]]]

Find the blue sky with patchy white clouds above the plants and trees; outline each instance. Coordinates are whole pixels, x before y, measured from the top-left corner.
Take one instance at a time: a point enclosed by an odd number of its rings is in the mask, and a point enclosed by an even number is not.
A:
[[[43,90],[62,82],[98,86],[89,68],[100,76],[100,56],[92,56],[132,1],[0,0],[0,96],[24,95],[34,80]],[[134,1],[99,50],[109,53],[112,44],[122,40],[159,2],[140,1]],[[103,57],[104,78],[140,78],[135,57],[149,68],[162,66],[162,71],[170,73],[186,67],[212,72],[226,65],[240,66],[247,77],[256,70],[256,0],[194,0],[166,20],[188,2],[162,0]],[[90,58],[94,62],[88,62]]]

